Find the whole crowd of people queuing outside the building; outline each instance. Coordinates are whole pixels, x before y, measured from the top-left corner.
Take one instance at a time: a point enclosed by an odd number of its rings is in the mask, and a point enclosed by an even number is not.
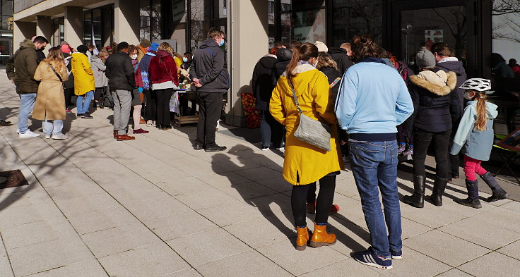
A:
[[[66,139],[62,128],[72,93],[77,96],[78,118],[93,118],[91,106],[103,108],[108,101],[118,141],[135,139],[129,135],[130,117],[133,134],[148,133],[145,125],[168,130],[170,99],[185,80],[196,87],[199,104],[194,149],[223,151],[226,147],[215,142],[215,130],[223,92],[229,89],[225,52],[220,48],[224,43],[225,34],[211,28],[193,55],[180,56],[166,42],[143,39],[136,46],[120,42],[100,51],[92,44],[73,49],[62,42],[45,57],[41,51],[48,44],[45,37],[25,39],[6,70],[20,95],[19,137],[39,136],[27,125],[32,111],[32,118],[43,121],[45,138]],[[285,148],[283,178],[293,184],[297,250],[336,242],[327,226],[329,214],[339,209],[333,196],[345,161],[352,167],[370,231],[370,248],[353,257],[379,269],[391,269],[391,260],[402,258],[399,154],[413,155],[414,192],[403,197],[413,207],[425,204],[429,147],[437,163],[430,197],[435,206],[442,206],[447,183],[459,178],[460,152],[468,198],[457,202],[481,207],[475,174],[492,189],[488,201],[508,197],[480,165],[489,159],[497,116],[497,106],[485,101],[490,81],[467,80],[462,63],[442,42],[420,49],[415,67],[379,47],[370,35],[355,36],[337,48],[323,42],[277,42],[259,59],[252,88],[261,111],[261,149]],[[331,151],[295,137],[300,114],[331,127]],[[307,213],[315,214],[312,235]]]

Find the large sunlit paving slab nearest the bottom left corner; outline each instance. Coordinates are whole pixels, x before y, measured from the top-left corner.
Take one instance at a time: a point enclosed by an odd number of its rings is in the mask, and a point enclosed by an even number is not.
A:
[[[78,235],[8,250],[16,276],[25,276],[78,261],[92,259],[93,254]]]

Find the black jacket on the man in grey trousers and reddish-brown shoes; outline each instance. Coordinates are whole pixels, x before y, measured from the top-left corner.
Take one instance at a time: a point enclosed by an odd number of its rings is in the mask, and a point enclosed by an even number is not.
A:
[[[107,59],[107,70],[110,90],[133,90],[136,87],[132,60],[123,51],[117,51]]]

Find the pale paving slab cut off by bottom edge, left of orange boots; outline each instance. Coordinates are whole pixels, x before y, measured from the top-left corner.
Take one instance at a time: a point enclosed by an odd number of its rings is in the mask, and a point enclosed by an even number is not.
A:
[[[254,250],[211,261],[208,264],[196,266],[196,269],[203,276],[207,277],[293,276],[291,273],[278,266],[278,264],[273,263],[273,261],[267,259]]]

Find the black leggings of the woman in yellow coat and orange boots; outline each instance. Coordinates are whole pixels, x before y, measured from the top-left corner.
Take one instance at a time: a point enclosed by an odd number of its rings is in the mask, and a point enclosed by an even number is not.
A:
[[[308,185],[293,185],[293,192],[290,196],[290,204],[293,208],[293,217],[296,226],[307,226],[305,216],[307,214],[307,191],[316,182]],[[324,176],[319,179],[319,194],[316,203],[316,223],[327,223],[329,211],[334,200],[334,190],[336,189],[336,175]]]

